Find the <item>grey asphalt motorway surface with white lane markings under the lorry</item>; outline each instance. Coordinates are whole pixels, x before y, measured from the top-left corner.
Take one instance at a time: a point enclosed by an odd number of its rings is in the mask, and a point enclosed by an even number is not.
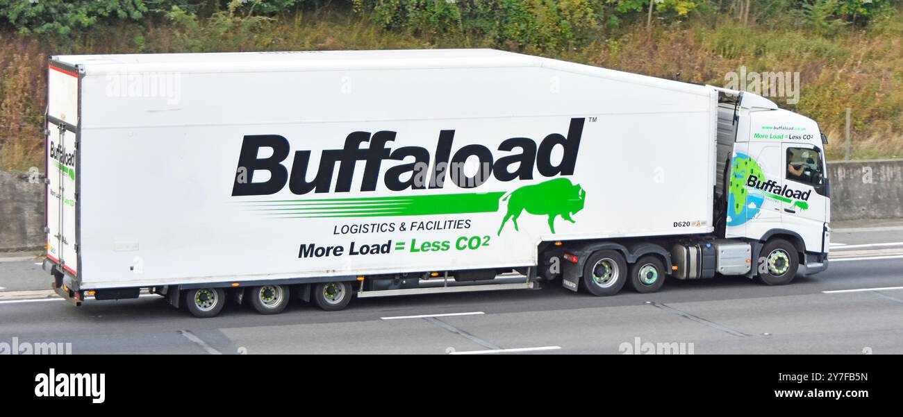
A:
[[[787,286],[671,280],[602,298],[554,286],[361,299],[334,312],[293,301],[275,316],[229,305],[205,320],[155,295],[76,308],[50,295],[37,260],[7,256],[0,344],[71,343],[75,354],[903,354],[903,226],[863,226],[835,230],[828,271]]]

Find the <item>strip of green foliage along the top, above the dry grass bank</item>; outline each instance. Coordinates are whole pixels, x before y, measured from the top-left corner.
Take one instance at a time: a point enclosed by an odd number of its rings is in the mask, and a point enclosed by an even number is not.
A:
[[[901,0],[0,0],[0,25],[23,33],[66,35],[92,27],[165,18],[178,9],[207,18],[227,11],[267,16],[332,7],[351,9],[383,28],[416,33],[471,32],[500,42],[563,47],[600,25],[654,16],[675,23],[694,14],[745,10],[753,19],[789,16],[830,34],[866,24]],[[653,7],[649,13],[650,5]],[[744,9],[744,7],[746,9]]]

